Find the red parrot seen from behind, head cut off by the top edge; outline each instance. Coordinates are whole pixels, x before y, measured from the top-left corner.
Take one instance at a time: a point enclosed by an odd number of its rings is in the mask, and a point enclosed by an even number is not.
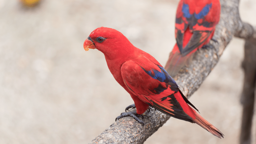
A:
[[[170,76],[175,76],[194,52],[212,39],[220,8],[219,0],[180,0],[175,22],[177,43],[165,66]]]

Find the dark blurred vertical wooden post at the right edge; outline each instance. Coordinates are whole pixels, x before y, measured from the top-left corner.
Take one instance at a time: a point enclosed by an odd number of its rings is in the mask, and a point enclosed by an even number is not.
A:
[[[244,69],[244,88],[241,94],[243,114],[240,144],[250,144],[256,81],[256,40],[253,38],[245,41],[242,67]]]

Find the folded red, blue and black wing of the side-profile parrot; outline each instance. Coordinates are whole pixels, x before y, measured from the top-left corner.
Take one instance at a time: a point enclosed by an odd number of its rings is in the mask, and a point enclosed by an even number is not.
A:
[[[161,66],[151,61],[146,64],[130,60],[122,65],[121,75],[130,92],[165,114],[193,122],[191,107],[175,81]]]

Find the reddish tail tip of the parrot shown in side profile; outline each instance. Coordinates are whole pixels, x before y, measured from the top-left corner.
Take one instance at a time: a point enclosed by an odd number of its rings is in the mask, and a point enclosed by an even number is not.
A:
[[[219,137],[219,138],[224,138],[224,134],[222,132],[220,132],[216,127],[214,127],[212,124],[210,124],[209,122],[207,122],[203,117],[201,117],[194,109],[194,114],[196,116],[195,119],[193,119],[193,121],[195,123],[197,123],[199,126],[203,127],[204,129],[206,129],[207,131],[209,131],[210,133],[212,133],[214,136]]]

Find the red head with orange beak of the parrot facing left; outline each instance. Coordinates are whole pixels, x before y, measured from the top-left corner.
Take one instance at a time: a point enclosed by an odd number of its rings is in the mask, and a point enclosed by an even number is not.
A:
[[[112,59],[122,54],[127,55],[133,51],[134,46],[121,32],[112,28],[99,27],[85,40],[84,49],[86,51],[98,49],[106,58]]]

